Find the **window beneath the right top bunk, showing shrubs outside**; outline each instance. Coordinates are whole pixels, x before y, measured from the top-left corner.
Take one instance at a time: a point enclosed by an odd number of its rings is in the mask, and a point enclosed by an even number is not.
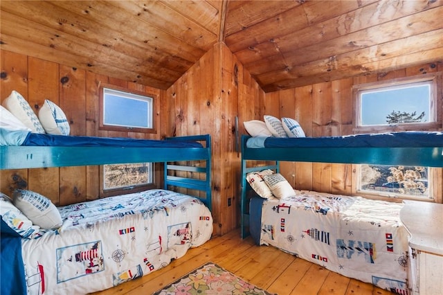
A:
[[[360,165],[358,193],[431,200],[431,172],[428,167]]]

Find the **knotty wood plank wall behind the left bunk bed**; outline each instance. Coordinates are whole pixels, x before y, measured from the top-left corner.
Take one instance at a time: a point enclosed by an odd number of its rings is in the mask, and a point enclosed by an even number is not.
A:
[[[0,53],[1,102],[12,90],[16,90],[38,114],[39,107],[47,98],[63,109],[70,122],[71,135],[160,138],[165,133],[160,124],[161,107],[155,118],[155,124],[159,127],[157,134],[98,130],[98,89],[101,83],[159,96],[157,106],[160,105],[160,96],[164,91],[19,53]],[[98,166],[3,170],[0,172],[0,190],[7,195],[11,195],[15,188],[34,190],[49,197],[57,206],[62,206],[96,199],[99,193],[98,173]]]

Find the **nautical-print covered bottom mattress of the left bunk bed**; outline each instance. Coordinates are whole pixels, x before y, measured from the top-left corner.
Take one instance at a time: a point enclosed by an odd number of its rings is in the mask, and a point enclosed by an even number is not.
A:
[[[57,231],[22,239],[28,294],[87,294],[150,274],[208,241],[195,197],[147,190],[58,208]]]

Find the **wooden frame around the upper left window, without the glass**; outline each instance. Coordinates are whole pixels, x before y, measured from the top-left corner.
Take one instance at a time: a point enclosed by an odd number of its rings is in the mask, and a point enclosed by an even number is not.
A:
[[[152,120],[152,128],[143,128],[143,127],[125,127],[125,126],[115,126],[115,125],[105,125],[104,123],[104,119],[105,119],[105,114],[104,114],[104,89],[111,89],[114,91],[120,91],[120,92],[124,92],[124,93],[129,93],[129,94],[133,94],[136,96],[143,96],[146,98],[151,98],[152,99],[152,109],[151,109],[151,120]],[[147,133],[147,134],[153,134],[156,133],[156,120],[155,120],[155,116],[154,114],[156,114],[156,102],[158,100],[158,97],[153,94],[153,93],[148,93],[148,92],[142,92],[142,91],[136,91],[133,89],[127,89],[125,87],[118,87],[116,85],[111,85],[111,84],[100,84],[100,89],[99,89],[99,125],[98,125],[98,129],[99,130],[107,130],[107,131],[116,131],[116,132],[139,132],[139,133]]]

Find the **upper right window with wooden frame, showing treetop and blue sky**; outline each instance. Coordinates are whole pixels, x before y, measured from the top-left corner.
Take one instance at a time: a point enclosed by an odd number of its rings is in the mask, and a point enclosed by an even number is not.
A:
[[[435,89],[435,75],[356,85],[356,131],[381,132],[436,127]]]

